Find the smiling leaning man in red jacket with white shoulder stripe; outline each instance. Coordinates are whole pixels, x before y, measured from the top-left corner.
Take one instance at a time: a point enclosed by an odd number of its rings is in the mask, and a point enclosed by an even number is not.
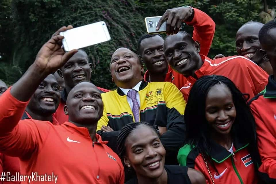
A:
[[[205,75],[226,76],[250,98],[267,84],[268,74],[246,57],[231,56],[212,60],[199,52],[200,44],[187,32],[170,35],[164,41],[164,53],[169,65],[187,78],[188,82],[180,90],[185,100],[196,80]]]

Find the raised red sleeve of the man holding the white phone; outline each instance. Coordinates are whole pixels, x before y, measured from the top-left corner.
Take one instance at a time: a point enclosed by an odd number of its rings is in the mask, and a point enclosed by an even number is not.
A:
[[[20,158],[30,157],[42,147],[53,125],[45,121],[20,120],[28,102],[14,98],[10,88],[0,96],[0,104],[5,104],[0,110],[0,152]]]

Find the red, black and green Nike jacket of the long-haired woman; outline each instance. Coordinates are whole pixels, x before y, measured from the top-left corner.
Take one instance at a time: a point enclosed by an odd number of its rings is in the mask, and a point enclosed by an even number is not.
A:
[[[218,171],[211,166],[205,154],[205,159],[209,167],[214,183],[216,184],[256,184],[257,172],[247,150],[248,144],[241,143],[234,139],[233,154],[228,152],[224,147],[212,143],[210,157]],[[188,166],[199,170],[206,178],[207,184],[212,184],[212,180],[202,154],[199,150],[185,145],[180,148],[177,156],[179,165]]]

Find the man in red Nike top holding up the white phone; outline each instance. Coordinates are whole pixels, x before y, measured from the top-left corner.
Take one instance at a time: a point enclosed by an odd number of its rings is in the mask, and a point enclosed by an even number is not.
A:
[[[45,43],[26,73],[0,97],[0,104],[6,106],[0,111],[0,152],[20,158],[21,175],[53,174],[51,183],[123,184],[124,170],[119,157],[96,134],[103,102],[92,83],[82,82],[70,90],[64,106],[68,122],[53,126],[47,120],[20,120],[37,87],[42,87],[43,79],[77,52],[74,49],[64,53],[63,38],[53,36]],[[43,101],[40,103],[45,103],[43,106],[49,110],[54,98],[41,97],[38,95]]]

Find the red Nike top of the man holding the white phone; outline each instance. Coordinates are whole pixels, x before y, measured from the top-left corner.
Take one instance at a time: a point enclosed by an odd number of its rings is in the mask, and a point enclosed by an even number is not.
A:
[[[20,158],[21,175],[53,172],[60,184],[124,183],[120,158],[98,134],[93,142],[87,128],[70,122],[54,126],[49,121],[20,120],[28,101],[14,98],[10,88],[0,96],[0,104],[5,104],[0,110],[0,152]]]

